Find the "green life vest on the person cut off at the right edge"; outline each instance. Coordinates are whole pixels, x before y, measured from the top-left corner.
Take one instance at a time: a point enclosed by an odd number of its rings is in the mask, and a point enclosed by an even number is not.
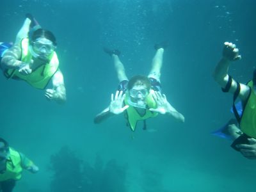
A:
[[[253,90],[252,81],[247,85],[250,86],[251,93],[244,106],[240,127],[242,132],[256,139],[256,93]]]

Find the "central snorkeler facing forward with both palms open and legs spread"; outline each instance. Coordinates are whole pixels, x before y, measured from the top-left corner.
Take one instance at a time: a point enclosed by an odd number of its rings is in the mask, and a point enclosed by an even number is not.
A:
[[[99,124],[109,116],[123,112],[125,112],[127,125],[132,131],[135,131],[138,121],[143,121],[143,129],[146,129],[145,120],[157,116],[158,113],[168,114],[180,122],[184,122],[184,116],[173,108],[166,96],[161,93],[160,76],[166,46],[167,44],[164,42],[155,45],[156,54],[148,76],[133,76],[129,80],[125,74],[124,65],[119,59],[120,51],[104,49],[113,58],[120,83],[115,97],[114,94],[111,94],[108,108],[95,117],[95,124]]]

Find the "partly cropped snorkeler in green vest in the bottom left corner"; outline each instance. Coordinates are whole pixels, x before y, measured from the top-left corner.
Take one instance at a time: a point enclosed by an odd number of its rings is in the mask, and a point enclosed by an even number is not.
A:
[[[0,191],[12,192],[23,170],[37,173],[39,169],[24,154],[9,147],[8,142],[0,138]]]

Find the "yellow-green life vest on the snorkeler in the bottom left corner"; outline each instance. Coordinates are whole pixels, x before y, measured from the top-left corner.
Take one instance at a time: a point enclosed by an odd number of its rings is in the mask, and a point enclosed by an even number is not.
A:
[[[6,171],[3,174],[0,173],[0,182],[8,179],[19,180],[21,178],[21,173],[22,167],[20,154],[10,148],[10,157],[6,161]]]

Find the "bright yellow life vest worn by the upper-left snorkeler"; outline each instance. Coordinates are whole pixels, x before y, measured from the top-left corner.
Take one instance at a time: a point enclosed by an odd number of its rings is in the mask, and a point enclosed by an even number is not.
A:
[[[21,61],[30,63],[32,55],[29,52],[29,40],[24,38],[21,42],[22,57]],[[52,76],[56,73],[59,67],[59,60],[56,52],[52,52],[49,56],[49,63],[41,65],[40,67],[33,70],[31,74],[22,75],[17,69],[8,69],[4,72],[7,78],[22,79],[29,83],[31,86],[44,90]]]

